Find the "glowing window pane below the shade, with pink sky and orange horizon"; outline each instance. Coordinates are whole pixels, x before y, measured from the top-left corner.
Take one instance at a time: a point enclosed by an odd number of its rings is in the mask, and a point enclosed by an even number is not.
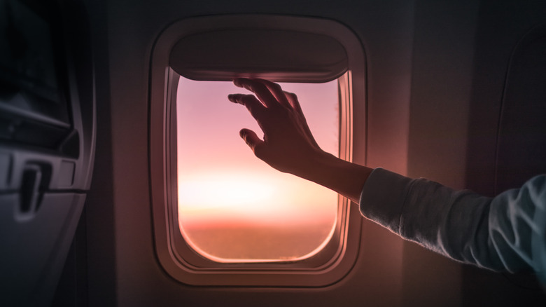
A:
[[[316,141],[338,155],[337,81],[282,83],[297,93]],[[180,78],[177,93],[179,226],[193,249],[214,261],[305,259],[330,240],[337,193],[278,172],[239,137],[261,130],[230,93],[231,82]]]

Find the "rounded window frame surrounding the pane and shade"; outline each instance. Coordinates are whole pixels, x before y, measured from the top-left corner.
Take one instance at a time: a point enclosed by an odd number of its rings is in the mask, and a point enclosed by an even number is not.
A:
[[[339,156],[352,161],[353,74],[365,71],[360,41],[349,29],[331,20],[274,15],[230,15],[182,20],[156,41],[151,64],[150,173],[155,251],[169,275],[189,285],[253,287],[323,287],[341,280],[354,265],[360,249],[362,218],[358,206],[338,196],[334,236],[323,250],[299,261],[220,263],[195,252],[179,229],[176,168],[176,90],[179,74],[169,67],[172,46],[184,36],[223,27],[259,23],[272,29],[325,34],[347,51],[347,71],[338,78]],[[214,27],[213,25],[216,25]],[[221,26],[220,26],[221,28]],[[363,86],[363,84],[362,84]],[[364,95],[359,103],[363,103]]]

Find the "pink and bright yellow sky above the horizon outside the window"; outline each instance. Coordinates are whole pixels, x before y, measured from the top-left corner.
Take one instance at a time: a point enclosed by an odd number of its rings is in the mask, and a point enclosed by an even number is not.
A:
[[[337,155],[337,81],[281,86],[297,94],[321,148]],[[181,77],[177,93],[177,161],[183,234],[191,236],[192,229],[222,225],[332,228],[337,216],[337,193],[278,172],[255,158],[239,137],[239,130],[250,128],[259,136],[262,132],[243,106],[228,101],[230,93],[248,92],[230,82]]]

